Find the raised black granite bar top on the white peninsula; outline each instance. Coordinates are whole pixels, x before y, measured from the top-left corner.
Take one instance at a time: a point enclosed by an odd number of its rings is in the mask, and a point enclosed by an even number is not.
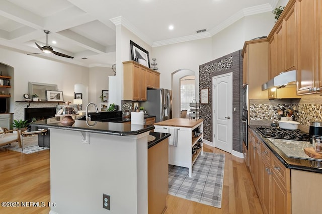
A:
[[[73,116],[74,117],[74,116]],[[79,117],[78,117],[79,118]],[[75,119],[78,119],[77,117]],[[56,128],[72,131],[85,131],[92,133],[101,133],[108,135],[138,135],[154,129],[154,126],[136,125],[128,123],[116,122],[96,122],[86,120],[75,120],[72,125],[64,125],[60,123],[61,117],[53,117],[31,123],[30,125],[37,125],[40,128]]]

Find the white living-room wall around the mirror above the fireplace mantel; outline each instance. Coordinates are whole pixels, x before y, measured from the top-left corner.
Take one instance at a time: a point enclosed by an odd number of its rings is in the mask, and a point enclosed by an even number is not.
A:
[[[28,93],[28,81],[57,84],[58,90],[63,91],[64,101],[73,100],[75,83],[89,85],[87,67],[30,56],[2,47],[0,63],[14,69],[14,93],[11,94],[14,101],[23,100],[23,94]]]

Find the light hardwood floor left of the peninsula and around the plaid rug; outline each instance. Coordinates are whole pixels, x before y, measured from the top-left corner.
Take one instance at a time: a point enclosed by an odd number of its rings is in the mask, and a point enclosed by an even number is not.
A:
[[[165,213],[263,213],[244,160],[207,145],[204,151],[226,155],[221,208],[168,195]],[[20,207],[0,206],[0,213],[49,212],[49,150],[27,155],[0,148],[0,200],[20,203]],[[44,202],[47,207],[21,207],[22,201]]]

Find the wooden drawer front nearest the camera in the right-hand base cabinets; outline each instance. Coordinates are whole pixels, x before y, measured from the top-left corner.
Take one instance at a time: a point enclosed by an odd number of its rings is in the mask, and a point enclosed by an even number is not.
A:
[[[286,191],[291,191],[291,173],[290,169],[286,168],[280,160],[274,155],[271,157],[271,168],[273,176],[281,181],[281,184],[286,188]]]

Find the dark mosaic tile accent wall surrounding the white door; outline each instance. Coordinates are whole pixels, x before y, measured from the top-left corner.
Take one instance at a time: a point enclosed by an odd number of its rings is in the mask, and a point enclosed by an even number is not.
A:
[[[241,66],[240,66],[241,65]],[[216,60],[210,61],[199,66],[199,89],[209,88],[209,104],[200,105],[200,118],[203,119],[203,138],[212,142],[212,77],[224,73],[233,73],[233,105],[237,106],[236,112],[233,112],[233,150],[240,150],[240,126],[239,126],[239,105],[240,105],[240,71],[242,60],[240,51],[228,54]],[[200,93],[200,90],[199,90]],[[199,97],[201,95],[199,94]]]

